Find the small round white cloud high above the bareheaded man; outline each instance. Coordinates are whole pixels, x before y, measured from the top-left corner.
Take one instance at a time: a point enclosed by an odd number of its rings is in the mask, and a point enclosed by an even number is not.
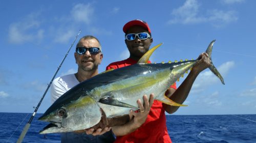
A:
[[[94,17],[94,8],[91,6],[91,4],[77,4],[71,10],[71,15],[77,22],[90,24]]]

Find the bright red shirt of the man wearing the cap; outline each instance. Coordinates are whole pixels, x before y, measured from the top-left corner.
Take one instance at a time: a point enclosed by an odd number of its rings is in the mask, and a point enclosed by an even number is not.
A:
[[[118,69],[136,64],[137,61],[133,59],[126,59],[119,62],[111,63],[106,67],[109,69]],[[148,63],[151,63],[148,61]],[[176,82],[170,86],[176,90]],[[165,110],[162,102],[155,100],[147,119],[136,131],[126,134],[124,136],[117,136],[115,142],[172,142],[168,135],[166,127]]]

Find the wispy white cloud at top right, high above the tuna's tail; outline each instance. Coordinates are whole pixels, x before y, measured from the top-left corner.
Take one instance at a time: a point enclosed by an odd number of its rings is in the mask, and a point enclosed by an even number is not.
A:
[[[220,27],[238,20],[235,11],[208,10],[207,12],[200,12],[205,13],[205,15],[199,15],[199,8],[200,5],[196,0],[187,0],[183,6],[173,10],[173,18],[167,23],[195,24],[210,22],[212,25]]]

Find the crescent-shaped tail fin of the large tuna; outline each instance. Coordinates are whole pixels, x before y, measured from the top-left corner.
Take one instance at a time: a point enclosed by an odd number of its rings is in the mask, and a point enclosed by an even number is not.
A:
[[[215,41],[216,41],[216,40],[213,40],[213,41],[210,42],[210,44],[209,44],[209,46],[208,46],[208,48],[206,49],[205,52],[208,54],[208,56],[209,56],[209,58],[210,58],[210,62],[211,62],[211,65],[210,65],[209,69],[211,70],[212,73],[214,73],[217,77],[220,78],[222,84],[225,84],[223,77],[221,76],[221,74],[219,73],[219,71],[216,69],[216,67],[214,66],[214,64],[212,64],[212,61],[211,61],[211,51],[212,51],[212,46],[214,45],[214,42],[215,42]]]

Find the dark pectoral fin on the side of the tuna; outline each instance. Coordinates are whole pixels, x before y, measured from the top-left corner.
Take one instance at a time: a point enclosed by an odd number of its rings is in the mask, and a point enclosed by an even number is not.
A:
[[[99,102],[103,103],[103,104],[113,105],[113,106],[139,109],[139,107],[118,101],[118,100],[114,99],[113,96],[107,96],[107,97],[101,98],[99,100]]]

